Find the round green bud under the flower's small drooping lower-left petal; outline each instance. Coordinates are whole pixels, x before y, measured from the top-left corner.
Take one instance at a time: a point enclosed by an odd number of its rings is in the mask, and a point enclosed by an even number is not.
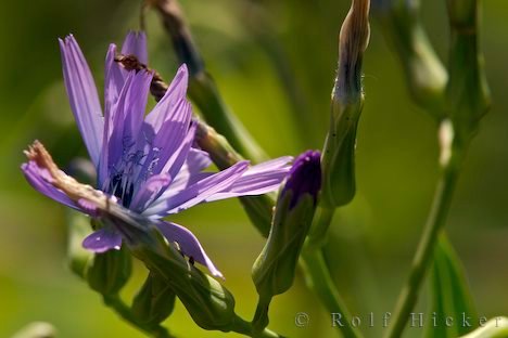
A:
[[[126,246],[119,250],[96,253],[90,260],[86,277],[93,290],[107,296],[117,295],[130,277],[132,262]]]

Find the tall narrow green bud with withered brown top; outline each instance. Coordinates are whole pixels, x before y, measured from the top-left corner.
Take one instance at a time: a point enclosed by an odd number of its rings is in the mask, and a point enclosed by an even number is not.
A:
[[[364,105],[361,62],[369,41],[369,0],[353,0],[339,39],[330,130],[325,143],[322,198],[336,207],[355,195],[356,128]]]

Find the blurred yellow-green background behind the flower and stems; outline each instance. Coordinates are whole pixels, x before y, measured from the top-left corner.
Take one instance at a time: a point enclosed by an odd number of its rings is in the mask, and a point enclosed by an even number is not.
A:
[[[327,130],[336,40],[348,1],[182,1],[195,40],[225,100],[270,156],[319,148]],[[482,1],[482,46],[494,107],[469,153],[448,222],[478,311],[508,314],[508,2]],[[22,151],[34,139],[64,167],[84,155],[62,84],[56,38],[73,32],[103,80],[107,43],[139,27],[139,1],[11,1],[0,11],[0,337],[48,321],[60,337],[142,337],[104,308],[65,266],[64,208],[24,181]],[[443,1],[424,1],[423,18],[442,60],[447,24]],[[150,63],[170,79],[177,68],[155,13],[147,16]],[[399,62],[373,21],[365,60],[366,104],[357,145],[358,194],[334,219],[328,249],[338,285],[365,321],[391,311],[405,281],[437,179],[435,128],[407,95]],[[300,116],[300,117],[299,117]],[[256,294],[250,271],[263,246],[237,200],[200,206],[175,221],[201,238],[251,317]],[[141,283],[143,270],[126,296]],[[423,295],[419,307],[423,307]],[[297,312],[309,314],[296,327]],[[275,330],[290,337],[333,337],[330,315],[299,278],[276,298]],[[179,337],[223,337],[196,327],[181,304],[166,322]],[[411,329],[407,337],[418,337]],[[233,335],[231,335],[233,336]]]

